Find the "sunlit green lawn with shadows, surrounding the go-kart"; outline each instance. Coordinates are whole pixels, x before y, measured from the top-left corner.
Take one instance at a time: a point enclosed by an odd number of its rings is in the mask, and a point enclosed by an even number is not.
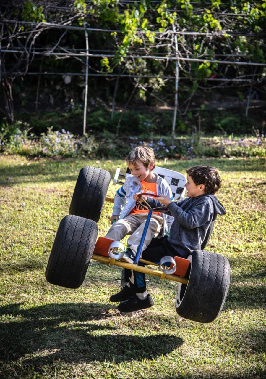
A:
[[[79,169],[113,175],[123,161],[0,157],[1,378],[262,378],[265,373],[265,160],[157,162],[185,173],[219,169],[227,214],[207,247],[226,256],[232,279],[224,309],[210,324],[180,319],[176,283],[149,276],[154,307],[120,316],[109,296],[120,269],[92,261],[77,290],[56,287],[44,271]],[[108,194],[117,187],[110,185]],[[109,227],[104,206],[99,236]]]

